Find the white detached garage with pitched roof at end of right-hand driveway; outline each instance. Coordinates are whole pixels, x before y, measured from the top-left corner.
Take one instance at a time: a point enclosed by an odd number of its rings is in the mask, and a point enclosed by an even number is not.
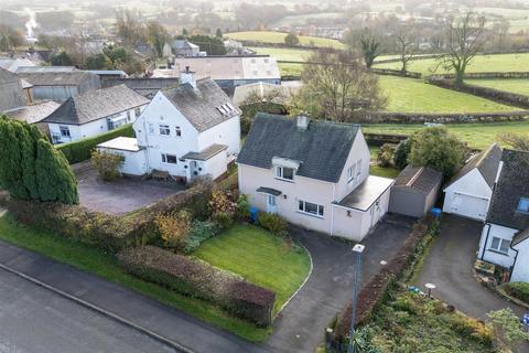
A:
[[[500,159],[496,143],[471,158],[444,186],[443,212],[484,221]]]

